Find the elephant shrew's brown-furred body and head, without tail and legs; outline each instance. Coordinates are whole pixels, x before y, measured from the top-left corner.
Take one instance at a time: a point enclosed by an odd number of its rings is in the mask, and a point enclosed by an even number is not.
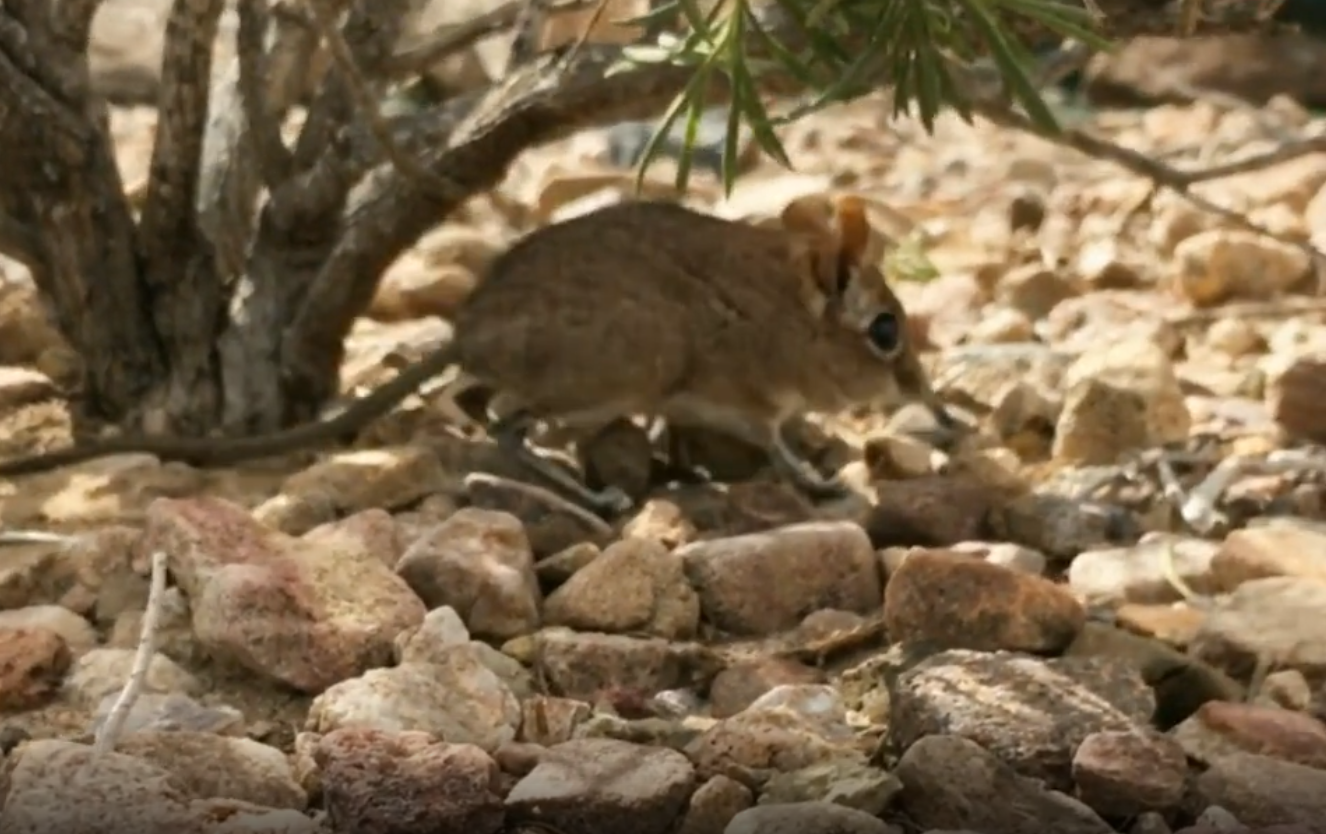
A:
[[[639,202],[530,235],[457,316],[460,365],[541,416],[586,426],[607,411],[662,415],[679,398],[756,420],[932,399],[924,374],[895,386],[906,345],[880,357],[865,339],[876,313],[902,325],[906,313],[859,202],[823,208],[801,200],[760,228]]]

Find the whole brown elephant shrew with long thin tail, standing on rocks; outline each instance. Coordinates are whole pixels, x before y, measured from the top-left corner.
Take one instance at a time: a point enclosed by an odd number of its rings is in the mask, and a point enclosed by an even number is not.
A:
[[[838,483],[784,442],[790,418],[919,400],[952,424],[878,267],[884,245],[855,198],[801,199],[758,225],[674,203],[609,206],[495,259],[451,343],[330,420],[257,438],[117,439],[4,463],[0,476],[117,452],[207,465],[326,444],[459,365],[451,396],[492,388],[499,443],[599,509],[629,503],[534,452],[525,442],[534,420],[582,436],[631,415],[723,431],[764,448],[808,493],[837,495]]]

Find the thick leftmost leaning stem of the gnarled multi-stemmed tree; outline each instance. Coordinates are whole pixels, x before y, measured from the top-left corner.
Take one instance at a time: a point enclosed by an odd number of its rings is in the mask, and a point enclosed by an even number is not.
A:
[[[34,53],[38,45],[48,52]],[[56,324],[74,346],[97,346],[85,355],[86,387],[99,392],[93,404],[119,416],[134,412],[162,361],[103,123],[95,107],[72,106],[68,89],[52,90],[29,72],[65,58],[0,9],[0,199],[15,228],[33,232],[19,239],[32,249],[16,255],[33,267]]]

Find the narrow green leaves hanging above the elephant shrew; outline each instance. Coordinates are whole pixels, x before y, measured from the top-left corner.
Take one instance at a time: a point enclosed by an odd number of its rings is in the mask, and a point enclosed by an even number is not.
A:
[[[688,29],[684,36],[666,34],[627,50],[630,64],[693,70],[640,160],[643,176],[667,135],[678,123],[684,125],[678,166],[678,186],[683,188],[709,101],[707,90],[716,81],[732,90],[723,152],[723,180],[731,192],[737,174],[737,127],[743,123],[769,156],[790,167],[776,127],[859,97],[882,86],[883,78],[895,88],[895,114],[915,111],[927,130],[934,130],[935,117],[945,107],[969,121],[971,109],[953,69],[983,57],[993,61],[1028,117],[1042,130],[1057,131],[1054,115],[1030,80],[1034,64],[1024,33],[1107,46],[1075,0],[769,0],[806,33],[805,44],[797,48],[761,25],[749,0],[719,0],[709,8],[701,1],[668,0],[626,21],[648,27],[680,20]],[[810,97],[790,111],[772,114],[760,98],[758,80],[765,74],[794,80]]]

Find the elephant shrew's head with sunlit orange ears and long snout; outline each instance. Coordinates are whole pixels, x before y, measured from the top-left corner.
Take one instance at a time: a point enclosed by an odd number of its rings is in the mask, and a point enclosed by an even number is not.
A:
[[[894,241],[875,229],[861,198],[808,196],[793,200],[780,217],[802,278],[802,301],[825,324],[826,337],[879,375],[859,379],[853,390],[879,407],[924,403],[944,426],[944,410],[911,343],[907,313],[884,280],[883,259]],[[857,388],[859,383],[861,388]]]

